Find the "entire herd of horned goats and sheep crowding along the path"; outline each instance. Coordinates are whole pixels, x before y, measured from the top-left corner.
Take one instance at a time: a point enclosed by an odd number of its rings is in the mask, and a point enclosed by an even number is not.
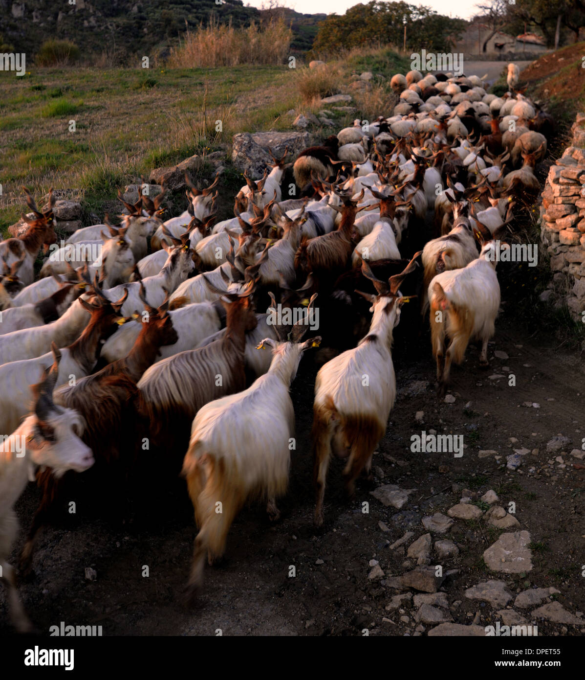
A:
[[[272,167],[246,175],[235,217],[216,224],[218,177],[200,190],[185,173],[180,216],[160,219],[164,187],[135,204],[120,192],[120,226],[105,218],[58,248],[52,191],[40,210],[24,189],[26,231],[0,242],[0,575],[17,630],[31,622],[7,560],[28,481],[42,495],[23,574],[65,488],[87,477],[111,488],[157,452],[174,479],[182,465],[198,525],[193,598],[248,500],[279,517],[295,447],[289,388],[305,350],[333,357],[315,381],[317,526],[332,454],[347,461],[350,495],[370,473],[395,401],[404,303],[413,328],[428,315],[440,395],[470,340],[487,364],[495,265],[509,248],[499,236],[512,205],[537,197],[553,129],[517,80],[510,65],[510,91],[496,97],[476,76],[396,75],[391,116],[356,120],[294,160],[300,197],[283,200],[287,150],[270,151]]]

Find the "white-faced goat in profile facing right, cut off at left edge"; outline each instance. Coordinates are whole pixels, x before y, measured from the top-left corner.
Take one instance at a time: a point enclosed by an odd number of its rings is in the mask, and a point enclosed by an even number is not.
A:
[[[14,568],[8,563],[18,532],[14,505],[38,466],[60,477],[67,470],[84,472],[94,462],[91,449],[80,439],[83,418],[77,411],[53,403],[60,360],[55,346],[53,356],[52,367],[44,371],[41,381],[32,387],[34,412],[0,443],[0,578],[7,585],[10,618],[21,633],[33,632],[33,624],[22,607]]]

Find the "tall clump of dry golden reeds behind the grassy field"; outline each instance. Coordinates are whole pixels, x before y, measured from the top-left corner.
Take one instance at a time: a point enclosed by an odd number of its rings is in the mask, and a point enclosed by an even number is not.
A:
[[[292,31],[282,19],[262,27],[252,23],[245,29],[212,19],[207,27],[201,24],[193,33],[188,31],[166,63],[170,68],[281,64],[291,40]]]

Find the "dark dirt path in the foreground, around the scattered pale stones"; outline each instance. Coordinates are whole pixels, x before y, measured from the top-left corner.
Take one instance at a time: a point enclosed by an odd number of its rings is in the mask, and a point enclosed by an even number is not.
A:
[[[122,524],[120,516],[105,519],[103,507],[79,508],[76,519],[64,514],[64,524],[43,534],[35,557],[35,580],[22,586],[26,608],[39,629],[46,632],[50,625],[64,621],[101,624],[108,635],[213,635],[217,628],[240,635],[359,634],[364,627],[370,628],[370,634],[412,634],[416,610],[405,605],[408,623],[397,610],[386,611],[391,596],[400,591],[385,587],[384,579],[368,581],[368,562],[378,560],[386,577],[404,572],[404,548],[390,551],[388,545],[406,530],[414,532],[412,540],[424,534],[422,517],[446,513],[465,487],[477,495],[494,489],[502,505],[514,500],[520,528],[530,532],[536,545],[533,571],[503,575],[510,591],[553,585],[569,611],[584,611],[580,565],[585,469],[569,455],[585,437],[584,364],[578,353],[559,349],[558,341],[542,334],[527,337],[514,314],[508,316],[505,304],[503,308],[491,345],[491,369],[481,371],[478,351],[469,347],[465,364],[454,373],[453,404],[439,402],[435,396],[428,338],[411,346],[408,354],[397,339],[399,392],[387,434],[374,456],[376,480],[373,485],[359,481],[356,498],[349,503],[341,486],[340,464],[334,462],[325,494],[323,533],[316,533],[311,524],[309,434],[316,368],[307,360],[291,390],[298,450],[292,459],[289,494],[280,503],[283,520],[269,526],[262,507],[246,509],[236,518],[226,559],[206,570],[198,609],[189,611],[181,603],[195,532],[180,483],[174,496],[166,496],[162,504],[153,501],[150,511],[135,516],[131,524]],[[495,349],[509,358],[493,358]],[[516,375],[516,387],[508,386],[509,372]],[[489,379],[490,375],[506,375],[506,379]],[[522,406],[525,402],[540,407]],[[416,411],[424,411],[421,424],[414,418]],[[467,444],[463,457],[410,452],[410,437],[431,428],[463,434]],[[571,439],[571,445],[567,451],[547,453],[547,441],[559,432]],[[517,441],[512,443],[511,437]],[[515,472],[505,466],[512,448],[533,451]],[[504,458],[478,458],[480,449],[495,449]],[[563,463],[554,460],[559,455]],[[370,496],[370,490],[382,483],[416,491],[399,511]],[[24,526],[37,498],[31,485],[18,504]],[[368,514],[361,512],[364,501],[370,503]],[[381,530],[378,522],[389,531]],[[460,570],[443,588],[455,622],[468,624],[476,613],[481,625],[495,621],[489,605],[480,606],[463,592],[479,581],[502,578],[489,572],[481,560],[498,534],[478,522],[457,520],[447,534],[433,537],[452,539],[460,547],[457,558],[442,562],[445,568]],[[21,545],[19,541],[18,549]],[[149,567],[148,577],[142,575],[144,565]],[[291,565],[295,577],[289,577]],[[96,581],[84,579],[86,566],[96,570]],[[6,634],[5,605],[1,607],[0,634]],[[383,617],[392,623],[383,623]],[[585,630],[585,626],[569,626],[568,634],[580,634],[580,628]],[[539,622],[539,632],[567,634],[566,627],[563,631],[559,624],[544,622]]]

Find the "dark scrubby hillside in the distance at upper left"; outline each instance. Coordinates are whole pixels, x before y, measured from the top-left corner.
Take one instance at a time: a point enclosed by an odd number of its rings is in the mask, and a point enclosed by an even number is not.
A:
[[[241,0],[0,0],[0,44],[16,52],[34,54],[50,38],[67,38],[82,54],[116,51],[152,56],[177,44],[187,28],[207,24],[213,14],[220,23],[234,27],[259,21],[262,13],[245,7]],[[324,14],[298,14],[286,10],[295,33],[292,49],[311,49],[317,23]],[[3,38],[3,40],[2,40]],[[32,56],[32,55],[31,55]]]

